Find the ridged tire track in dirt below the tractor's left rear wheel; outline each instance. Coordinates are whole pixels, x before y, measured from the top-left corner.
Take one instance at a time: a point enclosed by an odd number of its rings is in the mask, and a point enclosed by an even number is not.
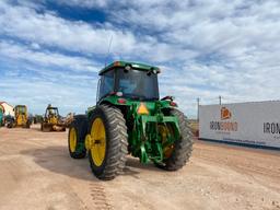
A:
[[[91,197],[94,205],[100,210],[113,210],[113,206],[109,203],[105,189],[101,183],[91,183]]]

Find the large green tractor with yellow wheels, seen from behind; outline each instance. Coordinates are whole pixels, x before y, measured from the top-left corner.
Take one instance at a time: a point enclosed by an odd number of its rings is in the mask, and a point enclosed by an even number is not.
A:
[[[172,96],[160,100],[156,67],[116,61],[100,72],[96,106],[74,116],[70,156],[85,158],[100,179],[122,172],[127,154],[177,171],[189,160],[192,133]]]

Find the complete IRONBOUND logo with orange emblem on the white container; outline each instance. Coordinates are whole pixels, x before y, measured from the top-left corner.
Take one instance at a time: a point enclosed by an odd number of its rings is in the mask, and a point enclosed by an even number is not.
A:
[[[236,121],[230,121],[226,119],[232,118],[232,113],[229,108],[222,107],[221,108],[221,121],[210,121],[210,129],[217,130],[217,131],[237,131],[238,130],[238,124]],[[226,121],[224,121],[226,120]]]

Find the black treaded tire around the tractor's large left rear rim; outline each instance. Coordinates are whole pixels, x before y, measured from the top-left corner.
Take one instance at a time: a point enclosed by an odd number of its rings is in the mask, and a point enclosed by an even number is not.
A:
[[[96,118],[101,118],[106,135],[105,158],[100,166],[96,166],[91,150],[89,161],[93,174],[103,180],[110,180],[122,173],[128,154],[128,135],[124,115],[117,107],[100,105],[93,110],[90,119],[88,133]]]

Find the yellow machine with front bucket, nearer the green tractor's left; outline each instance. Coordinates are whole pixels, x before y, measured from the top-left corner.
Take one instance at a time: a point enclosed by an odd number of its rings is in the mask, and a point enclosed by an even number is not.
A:
[[[61,120],[58,108],[49,104],[46,108],[44,119],[40,124],[40,130],[44,132],[66,131],[66,125]]]

